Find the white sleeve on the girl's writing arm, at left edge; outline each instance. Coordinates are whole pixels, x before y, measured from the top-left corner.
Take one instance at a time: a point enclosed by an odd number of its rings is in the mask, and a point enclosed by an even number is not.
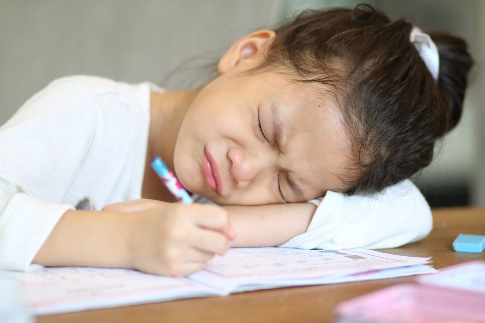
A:
[[[26,271],[61,216],[95,136],[97,110],[75,79],[50,83],[0,127],[0,269]]]

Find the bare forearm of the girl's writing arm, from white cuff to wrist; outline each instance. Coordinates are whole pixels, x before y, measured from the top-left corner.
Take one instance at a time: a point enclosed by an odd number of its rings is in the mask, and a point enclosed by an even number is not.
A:
[[[32,262],[47,266],[130,268],[135,217],[105,211],[67,211]]]

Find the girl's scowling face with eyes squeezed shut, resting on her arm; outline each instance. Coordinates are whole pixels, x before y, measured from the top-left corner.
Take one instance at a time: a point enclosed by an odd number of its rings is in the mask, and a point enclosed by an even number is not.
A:
[[[240,56],[229,50],[221,59],[221,75],[183,120],[174,153],[179,181],[219,205],[301,202],[344,190],[350,147],[332,96],[276,72],[240,75],[264,50],[264,37],[251,43],[250,36]]]

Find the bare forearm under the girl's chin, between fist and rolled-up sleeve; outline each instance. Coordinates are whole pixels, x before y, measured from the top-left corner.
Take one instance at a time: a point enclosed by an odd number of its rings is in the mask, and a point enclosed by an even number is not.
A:
[[[312,203],[223,206],[236,232],[232,247],[276,246],[307,231],[317,207]]]

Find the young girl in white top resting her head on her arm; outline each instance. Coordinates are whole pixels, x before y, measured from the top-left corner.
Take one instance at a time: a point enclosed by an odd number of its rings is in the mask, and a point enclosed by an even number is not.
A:
[[[431,213],[404,179],[458,122],[472,64],[429,36],[368,5],[307,11],[236,41],[198,89],[53,81],[0,128],[0,268],[187,275],[229,246],[422,239]],[[173,203],[155,155],[219,206]]]

